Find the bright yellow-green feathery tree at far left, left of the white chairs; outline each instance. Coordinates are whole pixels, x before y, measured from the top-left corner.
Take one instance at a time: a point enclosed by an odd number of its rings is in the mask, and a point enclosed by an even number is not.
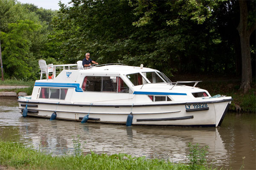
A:
[[[31,41],[29,34],[36,31],[40,25],[33,21],[20,20],[19,23],[9,24],[9,33],[2,32],[3,40],[3,65],[5,72],[10,77],[28,78],[31,76],[32,67],[28,64],[32,59],[29,56]]]

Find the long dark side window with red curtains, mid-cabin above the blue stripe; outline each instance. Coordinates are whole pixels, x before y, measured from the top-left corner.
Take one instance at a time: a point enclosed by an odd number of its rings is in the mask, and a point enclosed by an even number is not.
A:
[[[84,91],[129,93],[129,88],[121,77],[116,76],[87,76],[82,84]]]

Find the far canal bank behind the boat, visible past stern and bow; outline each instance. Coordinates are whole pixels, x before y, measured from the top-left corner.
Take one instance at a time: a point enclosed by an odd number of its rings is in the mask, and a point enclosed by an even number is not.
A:
[[[230,110],[239,112],[256,112],[256,80],[253,78],[252,88],[247,94],[243,94],[239,90],[240,78],[239,77],[217,77],[217,76],[205,76],[205,75],[175,75],[172,78],[172,82],[175,81],[192,81],[192,80],[202,80],[196,87],[200,87],[209,91],[209,93],[214,96],[217,94],[232,96],[233,102],[231,102]],[[0,91],[14,91],[26,92],[28,95],[32,94],[33,85],[35,81],[24,82],[22,80],[5,80],[0,81],[0,85],[25,85],[29,88],[18,88],[18,89],[0,89]],[[193,84],[188,84],[192,85]]]

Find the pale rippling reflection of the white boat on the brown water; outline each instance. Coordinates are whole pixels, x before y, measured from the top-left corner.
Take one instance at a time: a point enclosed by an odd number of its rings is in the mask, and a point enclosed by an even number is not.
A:
[[[20,118],[23,122],[25,119]],[[209,146],[214,157],[224,156],[226,150],[217,128],[149,127],[49,121],[49,119],[27,119],[34,125],[20,127],[26,142],[53,154],[72,151],[73,139],[80,136],[84,153],[128,153],[148,158],[186,160],[188,143]],[[26,133],[29,132],[29,133]],[[29,140],[28,140],[29,139]]]

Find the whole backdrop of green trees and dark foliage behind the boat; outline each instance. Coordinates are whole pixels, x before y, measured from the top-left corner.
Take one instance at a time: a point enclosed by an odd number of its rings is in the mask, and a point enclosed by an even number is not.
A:
[[[239,3],[233,0],[70,0],[60,10],[0,0],[5,78],[38,79],[38,60],[66,64],[85,53],[172,74],[241,74]],[[255,0],[248,1],[255,23]],[[253,17],[254,16],[254,17]],[[255,31],[251,59],[255,74]]]

